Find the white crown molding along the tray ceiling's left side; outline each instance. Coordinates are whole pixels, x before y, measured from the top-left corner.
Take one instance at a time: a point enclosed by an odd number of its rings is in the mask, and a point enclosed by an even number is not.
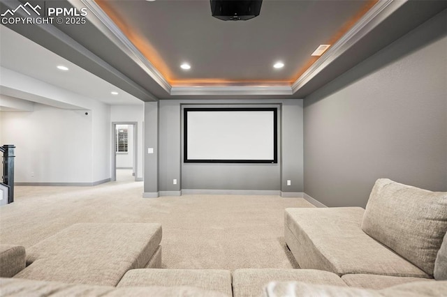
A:
[[[135,61],[142,70],[145,70],[157,84],[159,84],[166,92],[170,93],[172,86],[166,81],[165,77],[163,77],[159,70],[157,70],[154,65],[143,56],[140,50],[131,43],[131,40],[124,35],[115,22],[110,20],[110,17],[104,13],[95,1],[68,0],[68,2],[75,7],[85,6],[88,8],[93,13],[93,15],[90,13],[87,15],[89,21],[92,22],[105,36],[112,40],[122,52]],[[80,5],[80,3],[82,3],[82,5]]]

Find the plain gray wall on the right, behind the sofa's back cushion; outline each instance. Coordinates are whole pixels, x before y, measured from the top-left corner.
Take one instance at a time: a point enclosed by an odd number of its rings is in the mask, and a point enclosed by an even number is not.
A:
[[[447,191],[447,13],[305,98],[305,192],[365,206],[376,178]]]

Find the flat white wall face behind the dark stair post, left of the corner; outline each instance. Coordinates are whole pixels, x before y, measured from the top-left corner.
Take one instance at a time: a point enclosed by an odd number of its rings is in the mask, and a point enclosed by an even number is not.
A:
[[[91,183],[92,117],[36,104],[1,112],[1,142],[15,144],[16,183]]]

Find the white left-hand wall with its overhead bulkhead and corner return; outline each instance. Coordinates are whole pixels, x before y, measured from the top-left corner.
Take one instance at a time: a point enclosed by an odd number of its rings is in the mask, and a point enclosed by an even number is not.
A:
[[[15,97],[61,102],[54,103],[56,107],[35,103],[34,112],[0,112],[1,143],[17,146],[15,182],[91,185],[108,181],[110,106],[6,68],[0,70],[3,90]]]

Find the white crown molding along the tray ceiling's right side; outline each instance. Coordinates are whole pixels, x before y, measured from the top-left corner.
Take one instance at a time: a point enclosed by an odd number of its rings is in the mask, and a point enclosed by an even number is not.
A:
[[[335,61],[352,45],[358,43],[367,33],[400,8],[407,0],[379,0],[360,20],[340,38],[334,45],[309,67],[291,86],[296,93],[332,61]]]

